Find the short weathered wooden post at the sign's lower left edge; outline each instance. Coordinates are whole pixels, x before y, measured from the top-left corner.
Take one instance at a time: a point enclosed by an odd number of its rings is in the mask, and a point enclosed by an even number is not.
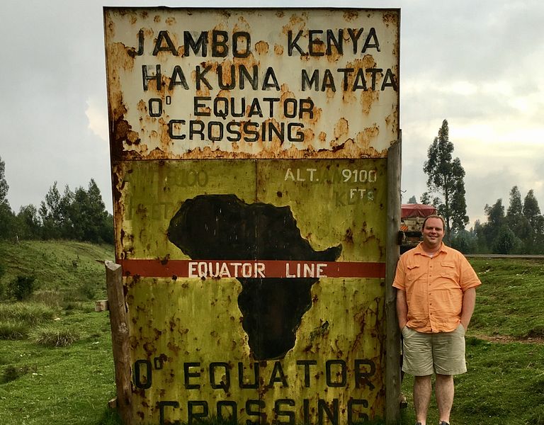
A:
[[[123,294],[123,271],[119,264],[105,261],[108,305],[110,309],[111,345],[115,361],[117,408],[123,424],[132,425],[132,385],[128,344],[127,307]]]

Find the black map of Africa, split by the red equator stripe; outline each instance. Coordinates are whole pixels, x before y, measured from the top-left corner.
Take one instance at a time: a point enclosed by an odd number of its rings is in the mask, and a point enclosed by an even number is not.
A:
[[[234,195],[186,200],[171,219],[169,240],[198,260],[336,261],[342,246],[314,251],[289,207],[246,204]],[[312,307],[319,278],[242,278],[238,307],[254,358],[283,358],[293,346],[302,315]]]

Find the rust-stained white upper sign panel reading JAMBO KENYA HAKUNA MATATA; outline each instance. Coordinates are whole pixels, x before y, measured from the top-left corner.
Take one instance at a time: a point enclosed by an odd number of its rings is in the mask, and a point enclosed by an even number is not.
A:
[[[176,13],[171,13],[173,10]],[[331,152],[323,157],[341,158],[349,154],[361,157],[368,152],[385,157],[387,148],[398,138],[397,12],[323,10],[319,11],[322,18],[315,22],[303,10],[293,9],[288,14],[271,12],[161,9],[148,14],[110,9],[106,13],[108,107],[111,123],[116,123],[111,132],[117,135],[113,150],[118,159],[131,160],[135,155],[142,159],[188,159],[205,152],[204,148],[210,145],[212,158],[280,158],[293,148],[319,154]],[[214,13],[219,21],[210,19]],[[280,32],[273,34],[261,23],[263,19],[267,23],[277,21]],[[185,31],[189,35],[184,35]],[[210,57],[212,33],[219,40],[214,48],[220,55],[225,51],[225,57]],[[195,43],[187,52],[186,37]],[[208,55],[199,57],[196,52],[203,45],[198,43],[203,40],[207,42]],[[234,40],[239,40],[236,47]],[[244,43],[248,41],[250,44],[246,46]],[[233,56],[234,48],[242,52],[241,57]],[[153,50],[158,52],[152,55]],[[249,50],[247,55],[245,50]],[[231,66],[245,67],[244,72],[249,74],[237,75],[233,89],[225,89],[218,83],[218,72],[224,84],[230,84]],[[253,77],[248,76],[254,66],[259,69],[259,81],[252,88]],[[366,71],[357,74],[359,69]],[[155,78],[157,72],[161,75]],[[239,85],[241,79],[246,80],[244,88]],[[161,89],[156,80],[160,81]],[[275,84],[280,89],[274,89]],[[210,105],[196,113],[193,103],[199,97],[246,98],[248,102],[257,98],[261,103],[263,98],[282,101],[271,104],[276,107],[271,114],[265,110],[256,113],[247,103],[241,117],[230,113],[218,117]],[[289,118],[281,115],[286,98],[291,102],[302,99],[311,102],[311,112]],[[345,111],[351,133],[345,140],[331,144],[320,135],[333,133],[328,118],[339,110]],[[396,118],[385,120],[386,116]],[[227,129],[232,123],[234,127]],[[266,125],[271,123],[275,129],[300,125],[300,132],[284,135],[280,146],[274,146],[274,141],[266,136]],[[372,124],[381,130],[370,141],[373,149],[366,146],[348,152],[339,149],[348,146],[348,140],[357,140],[361,128]],[[221,132],[222,139],[215,140]],[[276,137],[273,134],[271,137]],[[303,140],[296,140],[295,134]],[[254,142],[254,137],[259,143]],[[305,156],[295,154],[295,157]]]

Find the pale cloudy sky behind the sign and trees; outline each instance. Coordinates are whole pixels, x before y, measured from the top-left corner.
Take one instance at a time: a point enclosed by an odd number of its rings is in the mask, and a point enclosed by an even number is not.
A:
[[[229,7],[329,7],[327,1],[231,1]],[[103,6],[183,1],[2,0],[0,157],[8,201],[39,207],[94,179],[112,210]],[[200,1],[202,7],[225,7]],[[465,169],[468,227],[518,186],[544,209],[544,1],[339,0],[400,8],[402,201],[426,191],[427,149],[448,120]]]

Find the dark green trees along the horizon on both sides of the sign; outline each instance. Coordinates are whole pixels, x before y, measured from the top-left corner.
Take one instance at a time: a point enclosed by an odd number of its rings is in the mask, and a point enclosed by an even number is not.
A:
[[[420,203],[433,205],[446,222],[444,241],[465,254],[544,254],[544,216],[531,189],[523,201],[518,186],[510,191],[509,206],[498,199],[485,205],[486,222],[469,222],[465,200],[465,170],[459,158],[453,158],[448,121],[443,120],[437,137],[429,146],[424,172],[428,191]],[[6,198],[8,183],[0,157],[0,239],[75,239],[86,242],[113,243],[113,216],[106,211],[94,179],[88,188],[61,194],[57,182],[45,194],[40,207],[25,205],[18,213]],[[409,203],[416,203],[415,196]]]

